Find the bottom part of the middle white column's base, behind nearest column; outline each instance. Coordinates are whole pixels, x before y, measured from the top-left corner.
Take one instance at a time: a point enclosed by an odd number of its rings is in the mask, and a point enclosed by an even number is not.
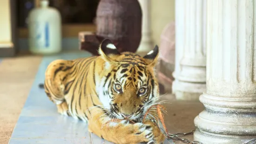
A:
[[[199,101],[200,95],[206,90],[206,85],[175,80],[172,89],[177,100]]]

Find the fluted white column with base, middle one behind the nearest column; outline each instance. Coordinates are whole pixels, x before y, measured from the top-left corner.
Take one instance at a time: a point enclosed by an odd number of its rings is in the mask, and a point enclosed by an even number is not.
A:
[[[205,0],[176,0],[176,60],[173,93],[198,100],[206,89]]]

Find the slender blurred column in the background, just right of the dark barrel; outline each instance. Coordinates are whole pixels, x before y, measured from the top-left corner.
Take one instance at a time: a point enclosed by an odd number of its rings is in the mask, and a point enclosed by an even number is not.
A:
[[[151,0],[138,0],[142,9],[142,38],[137,52],[149,52],[153,47],[151,39]]]

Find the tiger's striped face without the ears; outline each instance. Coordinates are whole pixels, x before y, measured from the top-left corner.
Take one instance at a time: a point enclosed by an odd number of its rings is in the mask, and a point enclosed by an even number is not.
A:
[[[133,63],[132,61],[139,61],[139,56],[130,54],[128,57],[138,59],[125,62],[127,64],[122,64],[124,60],[121,60],[118,69],[113,68],[117,72],[113,74],[110,86],[107,87],[109,105],[114,117],[136,120],[144,117],[149,105],[158,97],[158,83],[152,67]]]

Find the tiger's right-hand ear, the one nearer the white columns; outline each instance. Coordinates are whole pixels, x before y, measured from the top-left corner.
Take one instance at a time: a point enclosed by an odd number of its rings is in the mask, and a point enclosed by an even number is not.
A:
[[[158,45],[155,46],[155,48],[147,53],[143,58],[145,59],[146,63],[149,66],[155,67],[158,63],[158,55],[159,55],[159,48]]]

